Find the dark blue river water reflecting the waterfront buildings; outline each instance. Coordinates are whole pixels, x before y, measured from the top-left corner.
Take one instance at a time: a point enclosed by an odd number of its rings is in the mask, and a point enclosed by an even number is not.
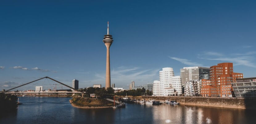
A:
[[[19,97],[17,111],[0,117],[0,124],[249,124],[256,110],[185,105],[126,104],[122,109],[79,109],[61,97]],[[2,112],[2,111],[1,111]]]

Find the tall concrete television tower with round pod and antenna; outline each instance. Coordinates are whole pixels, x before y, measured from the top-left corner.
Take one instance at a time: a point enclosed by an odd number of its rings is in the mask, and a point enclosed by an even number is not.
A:
[[[105,88],[107,89],[110,87],[110,61],[109,61],[109,48],[113,42],[112,35],[109,35],[109,22],[108,22],[108,29],[107,29],[107,34],[104,35],[103,42],[105,46],[107,47],[107,61],[106,61],[106,86]]]

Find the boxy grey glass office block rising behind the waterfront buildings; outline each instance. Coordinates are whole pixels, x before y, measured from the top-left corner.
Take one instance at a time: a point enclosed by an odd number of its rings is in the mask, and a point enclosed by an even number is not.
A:
[[[182,85],[192,80],[209,79],[209,71],[210,68],[207,67],[183,67],[180,69]]]

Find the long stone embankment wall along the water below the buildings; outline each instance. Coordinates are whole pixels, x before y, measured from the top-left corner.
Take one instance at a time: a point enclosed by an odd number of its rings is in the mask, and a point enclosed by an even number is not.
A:
[[[177,101],[185,105],[215,106],[228,108],[256,109],[256,98],[220,98],[220,97],[158,97],[142,96],[142,99],[155,99],[157,101]]]

